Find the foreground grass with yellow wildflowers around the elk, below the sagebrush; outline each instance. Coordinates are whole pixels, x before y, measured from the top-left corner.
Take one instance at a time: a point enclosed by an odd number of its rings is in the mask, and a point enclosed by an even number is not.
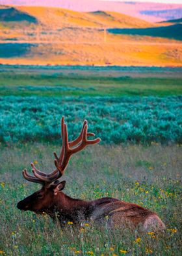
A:
[[[49,172],[53,151],[51,144],[0,146],[1,255],[181,255],[180,145],[90,147],[73,157],[64,174],[65,193],[71,197],[116,197],[157,212],[166,225],[161,234],[112,232],[105,223],[75,228],[71,221],[61,229],[45,214],[20,212],[17,202],[40,187],[23,180],[21,170],[34,161]]]

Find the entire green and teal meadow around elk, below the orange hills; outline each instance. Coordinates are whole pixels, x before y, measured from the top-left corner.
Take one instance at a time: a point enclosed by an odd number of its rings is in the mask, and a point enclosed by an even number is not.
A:
[[[181,255],[181,69],[1,66],[0,255]],[[108,231],[105,223],[60,229],[48,216],[16,208],[40,188],[23,179],[33,161],[50,172],[87,118],[102,143],[74,155],[65,193],[116,197],[157,212],[161,234]],[[107,220],[106,220],[107,221]]]

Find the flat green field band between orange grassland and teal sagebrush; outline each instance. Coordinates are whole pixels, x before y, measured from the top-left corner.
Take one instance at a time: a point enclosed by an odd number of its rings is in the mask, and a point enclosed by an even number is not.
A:
[[[0,96],[159,96],[182,94],[182,69],[3,66]]]

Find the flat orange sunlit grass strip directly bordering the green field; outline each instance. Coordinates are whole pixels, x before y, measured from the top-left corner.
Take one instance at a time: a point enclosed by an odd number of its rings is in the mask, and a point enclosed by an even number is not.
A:
[[[21,46],[20,46],[21,47]],[[133,65],[181,67],[182,45],[124,42],[99,44],[38,44],[25,56],[0,58],[3,64]]]

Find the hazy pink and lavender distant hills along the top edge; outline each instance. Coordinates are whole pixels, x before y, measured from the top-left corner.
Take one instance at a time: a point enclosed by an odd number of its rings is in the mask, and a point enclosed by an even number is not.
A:
[[[152,0],[151,0],[152,2]],[[0,0],[1,5],[60,7],[79,12],[98,10],[120,12],[148,22],[181,18],[182,5],[99,0]]]

